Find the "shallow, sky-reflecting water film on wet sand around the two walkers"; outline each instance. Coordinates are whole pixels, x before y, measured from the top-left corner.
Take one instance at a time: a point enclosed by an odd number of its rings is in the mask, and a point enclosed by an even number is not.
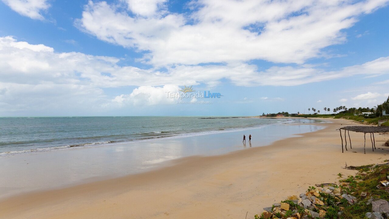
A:
[[[297,125],[312,120],[297,119],[294,120],[296,125],[284,124],[290,122],[286,119],[280,120],[282,122],[276,121],[242,131],[0,157],[0,197],[140,173],[161,167],[165,161],[172,159],[193,155],[220,155],[249,147],[261,147],[323,128],[319,125]],[[252,135],[251,144],[248,137],[247,142],[242,143],[244,134]]]

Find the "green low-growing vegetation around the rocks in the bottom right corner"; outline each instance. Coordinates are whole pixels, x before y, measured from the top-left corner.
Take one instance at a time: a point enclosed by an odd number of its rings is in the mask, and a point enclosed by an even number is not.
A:
[[[324,219],[364,219],[367,212],[372,212],[371,200],[372,198],[379,198],[389,200],[389,187],[378,188],[380,181],[387,180],[389,175],[389,163],[382,165],[364,165],[364,166],[349,166],[348,169],[358,170],[355,176],[348,176],[347,178],[339,180],[342,193],[354,196],[355,203],[350,204],[345,198],[341,196],[334,196],[319,191],[318,199],[324,205],[315,205],[312,210],[314,212],[324,212],[321,216]],[[338,174],[342,176],[342,174]],[[338,187],[336,185],[330,185]],[[315,192],[315,187],[309,187],[307,193]],[[291,200],[281,201],[281,203],[288,203],[289,210],[283,217],[276,215],[279,218],[296,217],[296,214],[304,215],[304,208],[294,203]],[[274,206],[273,206],[274,208]],[[273,209],[272,209],[273,210]],[[341,212],[341,213],[339,213]],[[293,216],[294,215],[294,216]],[[264,215],[256,215],[256,219],[264,219]]]

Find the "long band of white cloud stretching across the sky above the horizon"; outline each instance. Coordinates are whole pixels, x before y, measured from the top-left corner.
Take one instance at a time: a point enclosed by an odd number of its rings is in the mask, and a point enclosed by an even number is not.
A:
[[[389,72],[389,57],[378,58],[362,65],[338,71],[323,71],[314,67],[270,67],[259,71],[256,65],[233,63],[225,65],[176,65],[166,71],[140,69],[119,65],[116,57],[93,56],[84,53],[58,53],[43,44],[29,44],[14,37],[0,37],[0,102],[16,109],[28,108],[31,99],[51,101],[55,94],[62,99],[80,97],[94,106],[110,104],[169,104],[163,93],[177,91],[182,85],[213,86],[223,79],[238,86],[293,86],[317,81],[349,77],[357,74],[377,75]],[[244,78],[245,80],[242,80]],[[131,94],[107,97],[103,88],[137,86]],[[36,93],[32,92],[36,91]],[[31,95],[34,94],[32,97]],[[82,97],[82,98],[81,98]],[[54,99],[54,97],[53,97]],[[282,101],[282,98],[261,99]],[[56,100],[58,102],[58,100]],[[4,108],[3,108],[4,109]]]

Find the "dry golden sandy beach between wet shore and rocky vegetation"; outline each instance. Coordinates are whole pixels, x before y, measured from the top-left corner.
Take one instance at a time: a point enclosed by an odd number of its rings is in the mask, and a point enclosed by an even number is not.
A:
[[[389,159],[378,149],[388,136],[370,138],[350,132],[352,149],[342,153],[339,127],[328,119],[324,129],[225,155],[192,156],[164,168],[72,187],[20,194],[0,201],[0,218],[254,218],[263,207],[300,194],[317,183],[336,183],[347,165]],[[356,152],[356,153],[353,153]]]

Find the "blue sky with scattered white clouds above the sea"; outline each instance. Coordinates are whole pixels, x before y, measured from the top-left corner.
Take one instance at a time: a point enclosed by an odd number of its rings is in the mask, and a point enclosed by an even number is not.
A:
[[[389,95],[388,5],[0,0],[0,116],[371,108]],[[185,86],[221,96],[168,96]]]

